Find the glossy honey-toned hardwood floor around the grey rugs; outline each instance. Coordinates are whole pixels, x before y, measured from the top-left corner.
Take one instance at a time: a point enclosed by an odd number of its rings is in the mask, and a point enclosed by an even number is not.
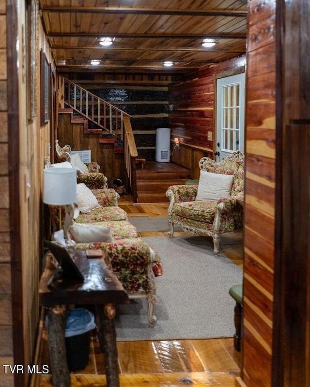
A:
[[[119,201],[128,217],[167,216],[168,203],[133,205],[130,196]],[[182,235],[183,232],[175,232]],[[140,236],[168,236],[167,232],[140,232]],[[220,250],[240,267],[243,265],[242,232],[221,237]],[[233,324],[233,310],[232,310]],[[47,333],[43,329],[39,356],[48,364]],[[233,338],[173,341],[118,341],[120,384],[122,387],[222,386],[234,387],[239,375],[241,354],[233,348]],[[36,386],[50,387],[50,375],[40,375]],[[105,359],[92,337],[90,360],[84,370],[73,372],[71,386],[106,386]]]

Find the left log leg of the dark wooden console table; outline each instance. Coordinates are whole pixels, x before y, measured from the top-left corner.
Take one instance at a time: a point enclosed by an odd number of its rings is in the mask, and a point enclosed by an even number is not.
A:
[[[70,387],[70,372],[64,340],[65,320],[65,306],[50,308],[48,313],[48,351],[54,387]]]

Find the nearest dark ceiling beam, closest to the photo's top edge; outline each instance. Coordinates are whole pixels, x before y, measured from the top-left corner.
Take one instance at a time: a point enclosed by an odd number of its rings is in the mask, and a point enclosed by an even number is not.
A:
[[[129,7],[65,7],[48,6],[43,13],[83,13],[83,14],[134,14],[134,15],[177,15],[177,16],[232,16],[247,17],[247,11],[238,10],[181,10],[167,8],[129,8]]]

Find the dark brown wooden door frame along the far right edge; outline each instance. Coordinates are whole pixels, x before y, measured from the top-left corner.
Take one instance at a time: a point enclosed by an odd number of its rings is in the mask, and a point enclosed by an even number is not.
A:
[[[276,7],[277,200],[272,387],[309,387],[310,55],[305,57],[302,50],[306,51],[304,20],[309,19],[310,10],[308,0],[291,4],[278,0]]]

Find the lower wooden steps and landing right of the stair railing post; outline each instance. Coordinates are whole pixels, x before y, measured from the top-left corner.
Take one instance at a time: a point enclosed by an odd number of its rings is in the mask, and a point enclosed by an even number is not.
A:
[[[144,169],[136,170],[137,203],[169,202],[167,189],[190,178],[190,170],[180,165],[148,161]]]

